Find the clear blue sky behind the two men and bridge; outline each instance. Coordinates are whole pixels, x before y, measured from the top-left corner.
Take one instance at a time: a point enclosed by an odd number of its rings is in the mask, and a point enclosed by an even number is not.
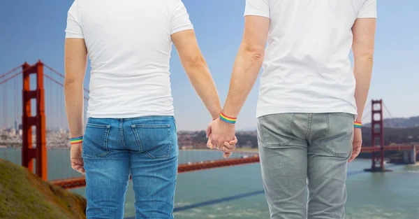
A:
[[[242,39],[245,1],[183,1],[223,104]],[[1,1],[0,75],[25,61],[35,63],[38,59],[64,73],[64,30],[67,11],[72,2]],[[377,4],[374,70],[368,98],[383,99],[393,117],[419,115],[419,1],[378,0]],[[193,91],[175,48],[170,59],[170,71],[178,129],[205,129],[211,120],[210,114]],[[84,84],[86,87],[89,85],[89,68]],[[258,85],[257,81],[238,116],[237,129],[256,128]],[[0,92],[4,92],[1,86]],[[13,85],[8,86],[13,88]],[[64,99],[61,96],[54,98],[62,104]],[[11,106],[13,98],[6,100],[10,101],[8,106]],[[4,103],[4,100],[0,101],[0,104]],[[0,114],[2,108],[6,107],[0,107]],[[8,108],[7,111],[11,110]],[[65,115],[56,114],[55,117]],[[385,115],[389,116],[388,113]],[[3,116],[0,116],[0,120],[4,120]],[[8,121],[13,119],[9,118]]]

